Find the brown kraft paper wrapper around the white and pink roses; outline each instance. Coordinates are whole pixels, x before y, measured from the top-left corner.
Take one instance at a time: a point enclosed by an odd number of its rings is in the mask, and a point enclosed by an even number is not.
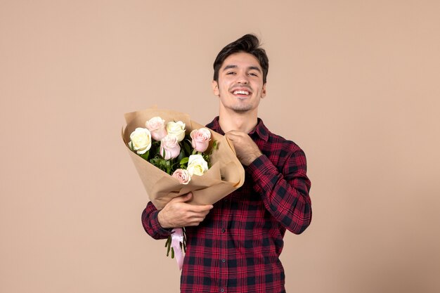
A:
[[[150,108],[125,114],[127,126],[122,129],[122,138],[148,197],[157,209],[162,209],[172,198],[189,192],[193,193],[190,204],[214,204],[240,188],[245,182],[245,169],[237,159],[231,141],[211,129],[209,129],[211,131],[209,148],[214,141],[217,141],[218,145],[218,149],[214,150],[210,157],[212,167],[202,176],[191,176],[191,181],[186,185],[131,151],[128,146],[131,132],[136,127],[145,128],[145,122],[156,116],[162,117],[165,123],[170,121],[185,123],[186,134],[205,126],[193,122],[185,113],[172,110]]]

